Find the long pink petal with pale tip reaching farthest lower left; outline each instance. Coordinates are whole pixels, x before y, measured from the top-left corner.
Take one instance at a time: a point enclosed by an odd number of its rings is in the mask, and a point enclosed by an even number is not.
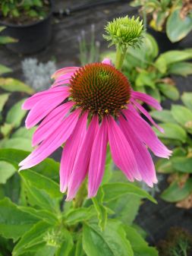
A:
[[[42,143],[39,144],[39,147],[33,150],[25,160],[20,162],[19,166],[22,166],[20,169],[36,166],[60,147],[61,144],[65,143],[74,131],[79,115],[80,109],[76,109],[71,115],[68,115],[68,117],[61,122],[61,125],[58,126],[56,131],[54,131],[45,141],[42,141]]]

